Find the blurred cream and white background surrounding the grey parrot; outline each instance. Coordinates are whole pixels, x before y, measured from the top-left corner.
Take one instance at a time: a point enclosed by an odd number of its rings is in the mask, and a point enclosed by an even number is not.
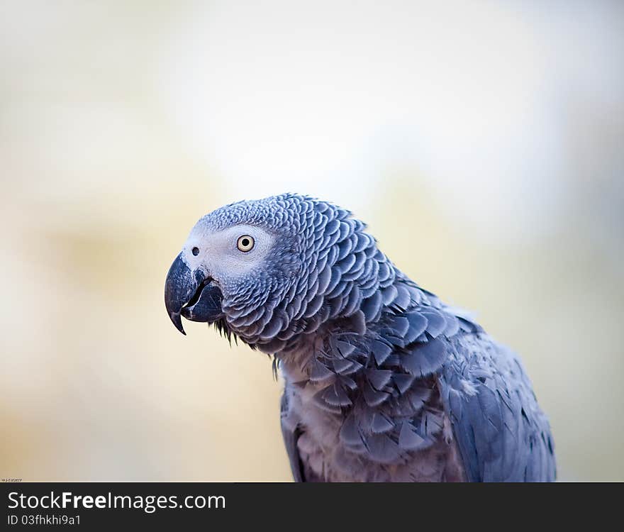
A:
[[[163,284],[300,192],[521,353],[561,480],[624,480],[623,2],[0,6],[1,477],[290,480],[268,358]]]

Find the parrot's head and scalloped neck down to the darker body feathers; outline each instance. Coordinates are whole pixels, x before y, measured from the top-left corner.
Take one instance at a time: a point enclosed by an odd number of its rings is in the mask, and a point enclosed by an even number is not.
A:
[[[279,350],[354,314],[379,277],[394,277],[365,227],[349,211],[297,194],[216,209],[196,223],[169,269],[169,318],[181,333],[184,317]]]

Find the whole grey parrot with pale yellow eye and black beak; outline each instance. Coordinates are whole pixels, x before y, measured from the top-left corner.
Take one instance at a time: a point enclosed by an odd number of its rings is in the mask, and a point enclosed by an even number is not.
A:
[[[518,357],[406,277],[365,228],[297,194],[221,207],[169,270],[169,318],[274,356],[297,481],[555,480]]]

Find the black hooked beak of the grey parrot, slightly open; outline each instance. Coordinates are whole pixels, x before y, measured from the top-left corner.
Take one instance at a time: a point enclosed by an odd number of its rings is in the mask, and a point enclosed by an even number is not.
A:
[[[182,334],[182,317],[190,321],[213,322],[223,317],[221,289],[201,270],[191,270],[180,253],[165,280],[167,314]]]

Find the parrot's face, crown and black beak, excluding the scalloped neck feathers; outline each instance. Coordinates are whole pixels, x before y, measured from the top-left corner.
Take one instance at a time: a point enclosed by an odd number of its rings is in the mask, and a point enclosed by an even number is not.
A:
[[[165,282],[165,306],[181,333],[181,316],[244,333],[250,314],[279,304],[301,270],[290,203],[240,201],[196,223]]]

